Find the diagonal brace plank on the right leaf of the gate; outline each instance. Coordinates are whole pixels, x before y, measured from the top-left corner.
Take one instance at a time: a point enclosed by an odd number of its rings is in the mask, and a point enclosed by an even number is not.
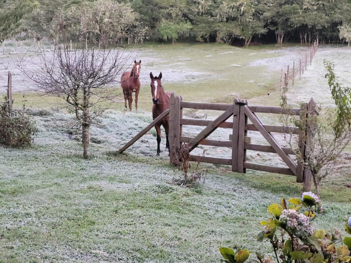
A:
[[[279,154],[279,156],[283,159],[283,161],[287,164],[287,166],[293,171],[293,173],[296,175],[297,173],[297,166],[296,164],[291,160],[290,156],[287,155],[284,150],[280,147],[278,142],[274,139],[274,137],[263,127],[261,121],[255,116],[251,110],[244,105],[243,106],[245,114],[249,119],[252,121],[254,126],[259,130],[259,132],[265,137],[267,142],[273,147],[273,149]]]

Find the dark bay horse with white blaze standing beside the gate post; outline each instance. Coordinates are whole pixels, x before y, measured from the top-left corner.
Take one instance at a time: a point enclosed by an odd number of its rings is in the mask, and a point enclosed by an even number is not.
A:
[[[161,113],[166,109],[170,108],[170,97],[171,92],[165,92],[161,84],[162,73],[158,76],[153,76],[150,72],[151,79],[151,95],[152,95],[152,119],[156,119]],[[168,149],[168,154],[170,152],[170,143],[168,142],[168,129],[169,129],[169,115],[165,116],[162,120],[155,124],[155,129],[157,133],[157,155],[160,155],[160,142],[161,142],[161,125],[166,132],[166,148]]]

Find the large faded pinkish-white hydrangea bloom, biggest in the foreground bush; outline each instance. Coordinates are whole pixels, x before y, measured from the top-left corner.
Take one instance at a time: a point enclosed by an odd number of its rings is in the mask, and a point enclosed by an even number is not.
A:
[[[286,225],[291,234],[302,239],[306,239],[314,232],[309,218],[304,214],[298,214],[294,209],[284,209],[279,220]]]

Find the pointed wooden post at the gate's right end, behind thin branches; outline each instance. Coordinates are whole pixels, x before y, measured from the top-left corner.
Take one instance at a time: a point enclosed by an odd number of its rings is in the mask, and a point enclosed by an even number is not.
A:
[[[312,140],[313,140],[313,130],[315,128],[313,115],[316,114],[317,104],[311,98],[310,102],[307,106],[307,122],[306,122],[306,147],[305,147],[305,158],[309,158],[312,149]],[[304,191],[311,191],[313,184],[313,176],[311,170],[305,168],[304,172],[304,182],[303,182],[303,189]]]

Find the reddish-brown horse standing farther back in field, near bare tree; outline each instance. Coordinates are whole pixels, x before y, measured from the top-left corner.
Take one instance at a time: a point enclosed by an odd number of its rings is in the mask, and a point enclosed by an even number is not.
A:
[[[132,93],[135,92],[135,109],[138,109],[138,95],[140,90],[140,68],[141,60],[137,62],[134,60],[132,71],[126,71],[121,76],[121,86],[124,95],[124,107],[127,108],[127,100],[129,110],[132,110],[133,97]]]

